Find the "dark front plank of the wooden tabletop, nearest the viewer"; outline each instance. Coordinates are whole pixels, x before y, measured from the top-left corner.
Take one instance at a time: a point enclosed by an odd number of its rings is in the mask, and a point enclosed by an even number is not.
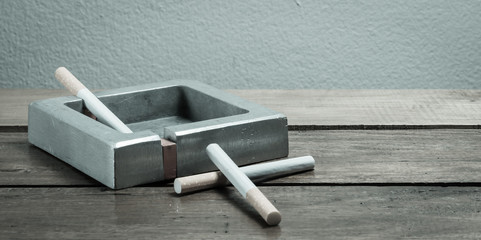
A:
[[[267,227],[232,188],[1,188],[4,239],[479,239],[479,187],[261,187]]]

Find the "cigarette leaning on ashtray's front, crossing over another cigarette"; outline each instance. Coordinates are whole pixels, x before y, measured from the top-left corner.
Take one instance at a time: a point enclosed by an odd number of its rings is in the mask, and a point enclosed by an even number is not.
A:
[[[209,144],[206,150],[210,160],[212,160],[249,204],[257,210],[268,225],[277,225],[281,222],[281,213],[279,210],[272,205],[219,145],[215,143]]]

